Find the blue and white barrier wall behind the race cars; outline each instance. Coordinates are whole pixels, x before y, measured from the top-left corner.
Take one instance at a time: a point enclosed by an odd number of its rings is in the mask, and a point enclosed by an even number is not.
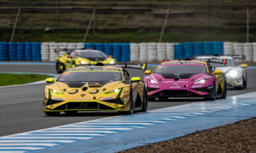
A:
[[[0,61],[55,61],[66,53],[54,49],[95,49],[113,55],[118,62],[153,62],[164,59],[193,58],[194,55],[246,55],[248,62],[256,62],[256,43],[185,42],[185,43],[54,43],[0,42]]]

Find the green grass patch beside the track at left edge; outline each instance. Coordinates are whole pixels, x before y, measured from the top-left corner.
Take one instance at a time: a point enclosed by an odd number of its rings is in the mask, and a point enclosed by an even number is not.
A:
[[[34,75],[34,74],[6,74],[0,73],[0,86],[5,85],[18,85],[18,84],[28,84],[30,82],[37,82],[49,78],[49,75]]]

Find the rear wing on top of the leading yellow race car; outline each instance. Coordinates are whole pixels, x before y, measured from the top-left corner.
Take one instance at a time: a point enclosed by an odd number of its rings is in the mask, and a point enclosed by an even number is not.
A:
[[[81,67],[81,66],[116,66],[120,68],[143,69],[144,71],[147,69],[147,63],[146,64],[134,64],[134,63],[102,64],[101,62],[98,62],[97,64],[78,64],[74,67]]]

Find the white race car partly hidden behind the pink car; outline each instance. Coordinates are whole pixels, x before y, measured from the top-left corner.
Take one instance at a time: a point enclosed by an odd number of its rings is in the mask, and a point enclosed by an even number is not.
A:
[[[244,89],[247,87],[247,64],[237,65],[235,59],[245,59],[244,55],[201,55],[195,56],[195,59],[208,61],[212,68],[221,70],[227,77],[227,87],[234,89]],[[222,63],[214,62],[222,61]],[[212,62],[211,62],[212,61]]]

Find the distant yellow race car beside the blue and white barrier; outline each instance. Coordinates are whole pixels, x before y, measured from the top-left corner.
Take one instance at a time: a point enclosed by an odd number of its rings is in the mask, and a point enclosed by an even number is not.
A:
[[[55,50],[60,52],[60,50]],[[100,50],[64,50],[67,53],[56,57],[56,71],[58,73],[63,73],[72,65],[77,64],[96,64],[97,62],[102,62],[103,64],[115,64],[116,60],[112,56],[108,56],[101,52]]]

